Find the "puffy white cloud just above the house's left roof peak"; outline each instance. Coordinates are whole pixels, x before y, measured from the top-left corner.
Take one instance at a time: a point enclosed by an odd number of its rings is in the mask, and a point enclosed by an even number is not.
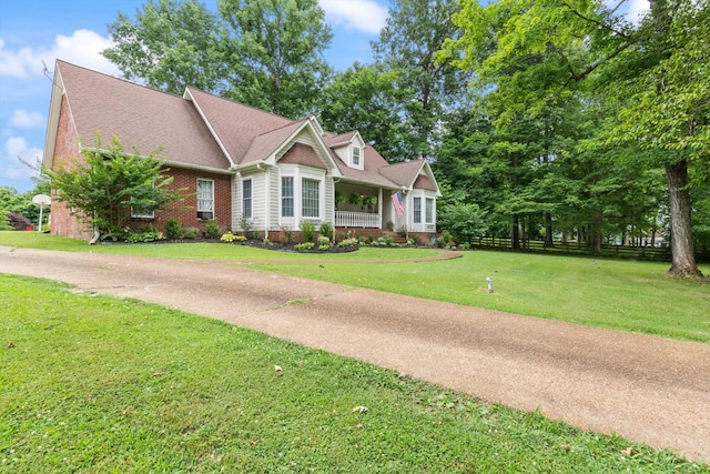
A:
[[[44,68],[42,61],[51,70],[58,58],[95,71],[118,74],[119,69],[101,56],[101,51],[112,46],[109,38],[91,30],[77,30],[71,37],[58,34],[50,49],[26,47],[12,51],[6,49],[6,42],[0,38],[0,75],[20,79],[39,75]]]

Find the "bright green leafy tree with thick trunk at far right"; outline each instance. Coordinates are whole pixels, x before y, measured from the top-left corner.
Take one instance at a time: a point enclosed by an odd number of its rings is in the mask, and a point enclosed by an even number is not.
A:
[[[588,81],[605,91],[607,144],[638,142],[647,165],[662,167],[672,223],[671,274],[700,275],[694,262],[688,165],[708,164],[710,49],[708,0],[653,0],[640,27],[592,0],[463,0],[464,30],[444,59],[474,70],[494,88],[511,87],[540,61],[548,74],[519,82],[541,101]],[[508,77],[509,79],[506,79]],[[602,80],[600,80],[602,79]],[[534,111],[526,105],[529,111]]]

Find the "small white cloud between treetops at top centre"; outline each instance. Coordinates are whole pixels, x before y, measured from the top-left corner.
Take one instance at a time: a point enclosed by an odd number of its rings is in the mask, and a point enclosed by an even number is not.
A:
[[[320,0],[326,20],[346,29],[378,33],[385,27],[387,9],[375,0]]]

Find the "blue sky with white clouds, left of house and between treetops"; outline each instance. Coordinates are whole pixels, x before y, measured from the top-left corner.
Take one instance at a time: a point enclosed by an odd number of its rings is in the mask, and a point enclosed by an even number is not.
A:
[[[202,0],[216,9],[216,0]],[[371,62],[369,41],[387,18],[387,0],[318,0],[333,28],[326,59],[337,70]],[[119,74],[99,51],[109,48],[106,24],[118,11],[134,17],[148,0],[0,0],[0,186],[34,188],[20,158],[41,159],[51,82],[43,74],[57,58]]]

